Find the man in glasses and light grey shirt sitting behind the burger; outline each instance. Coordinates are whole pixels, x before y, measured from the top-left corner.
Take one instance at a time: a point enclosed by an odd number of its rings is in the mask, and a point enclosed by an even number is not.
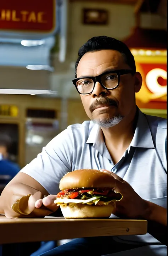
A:
[[[166,255],[166,119],[144,115],[136,107],[142,77],[121,41],[91,38],[79,49],[75,77],[73,84],[91,122],[69,126],[57,135],[6,186],[1,198],[5,215],[22,217],[11,204],[27,194],[32,195],[23,214],[50,214],[57,209],[53,201],[67,172],[111,171],[123,194],[114,214],[146,219],[149,233],[77,239],[44,255]]]

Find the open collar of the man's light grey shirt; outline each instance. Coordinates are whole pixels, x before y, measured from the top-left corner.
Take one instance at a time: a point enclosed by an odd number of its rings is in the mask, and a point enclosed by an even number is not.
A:
[[[103,151],[103,134],[101,128],[97,124],[93,124],[90,122],[92,126],[90,130],[90,134],[88,140],[86,141],[87,144],[93,144],[93,146],[97,146],[100,151]],[[134,133],[134,137],[130,143],[130,146],[136,148],[155,148],[153,144],[152,134],[149,127],[149,123],[144,113],[142,113],[138,108],[138,121],[136,124],[136,129]],[[130,148],[129,146],[129,148]]]

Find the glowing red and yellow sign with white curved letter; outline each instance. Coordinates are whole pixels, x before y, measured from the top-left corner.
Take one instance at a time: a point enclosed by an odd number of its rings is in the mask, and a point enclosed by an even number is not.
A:
[[[142,87],[136,94],[139,107],[167,107],[167,65],[156,63],[138,63],[137,71],[142,75]]]

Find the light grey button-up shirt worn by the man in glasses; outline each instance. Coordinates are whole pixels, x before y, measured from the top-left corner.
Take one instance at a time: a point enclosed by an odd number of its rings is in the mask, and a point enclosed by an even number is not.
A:
[[[167,120],[138,110],[133,140],[114,165],[101,128],[92,121],[85,121],[68,126],[21,172],[37,180],[50,194],[57,194],[59,182],[67,172],[103,168],[126,180],[143,199],[167,207],[166,141]],[[149,234],[116,239],[125,243],[158,243]]]

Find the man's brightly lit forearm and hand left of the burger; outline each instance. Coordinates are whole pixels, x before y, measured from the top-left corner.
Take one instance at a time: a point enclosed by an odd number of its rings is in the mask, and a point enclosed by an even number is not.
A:
[[[37,180],[19,172],[2,191],[0,213],[7,218],[44,217],[59,207],[55,199]]]

